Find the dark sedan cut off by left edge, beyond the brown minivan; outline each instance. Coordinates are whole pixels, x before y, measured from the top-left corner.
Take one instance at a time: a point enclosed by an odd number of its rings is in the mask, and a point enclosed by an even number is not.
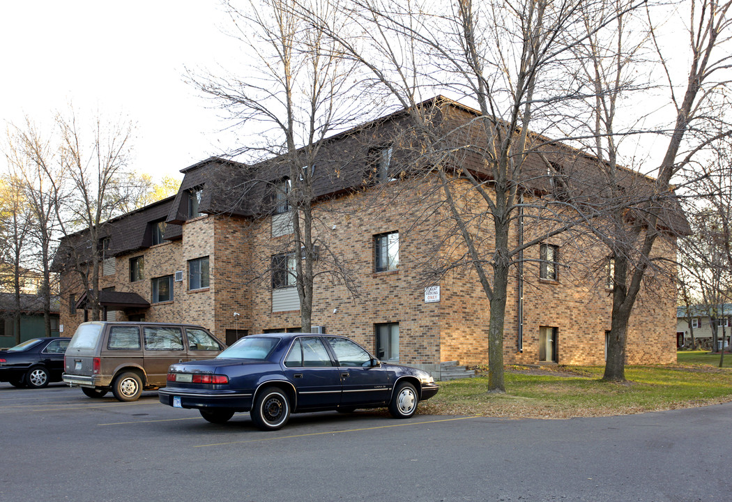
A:
[[[0,351],[0,382],[16,387],[40,389],[48,382],[60,382],[64,353],[70,338],[48,337],[26,340]]]

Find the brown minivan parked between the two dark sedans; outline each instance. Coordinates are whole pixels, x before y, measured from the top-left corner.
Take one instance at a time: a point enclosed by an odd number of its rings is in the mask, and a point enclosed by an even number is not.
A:
[[[201,326],[174,323],[81,323],[64,357],[64,382],[89,397],[110,390],[135,401],[143,390],[165,386],[176,362],[213,359],[226,348]]]

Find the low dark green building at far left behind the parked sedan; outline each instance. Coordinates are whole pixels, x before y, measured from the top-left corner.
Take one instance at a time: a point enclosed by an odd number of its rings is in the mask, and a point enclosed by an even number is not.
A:
[[[15,295],[0,293],[0,348],[17,345],[15,338]],[[51,296],[51,336],[59,336],[59,297]],[[43,304],[40,296],[20,295],[20,341],[45,337]]]

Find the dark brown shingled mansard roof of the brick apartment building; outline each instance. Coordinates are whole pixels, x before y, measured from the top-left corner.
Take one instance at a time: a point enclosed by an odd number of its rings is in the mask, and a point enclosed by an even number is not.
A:
[[[477,127],[481,115],[478,110],[469,108],[443,96],[436,96],[417,105],[433,107],[435,127],[441,127],[446,138],[445,146],[459,146],[460,160],[471,172],[490,179],[490,171],[485,168],[481,150],[485,141],[485,128]],[[359,190],[368,186],[369,169],[372,166],[373,149],[378,146],[395,144],[395,165],[408,165],[414,156],[419,156],[408,148],[414,138],[399,138],[400,134],[411,127],[408,109],[396,110],[386,116],[340,132],[326,138],[319,146],[313,171],[313,195],[315,198],[328,198],[340,193]],[[477,124],[477,125],[475,125]],[[501,127],[498,125],[496,127]],[[448,132],[445,132],[448,131]],[[483,139],[481,139],[483,138]],[[525,157],[524,172],[526,180],[521,187],[537,195],[551,193],[553,187],[546,176],[547,162],[561,165],[562,175],[573,181],[573,189],[578,195],[586,197],[588,204],[597,203],[597,187],[607,184],[598,160],[588,154],[573,149],[563,143],[550,141],[542,135],[531,133],[536,141],[536,150]],[[407,145],[407,146],[403,146]],[[449,149],[449,148],[448,148]],[[301,149],[301,151],[304,151]],[[226,160],[223,157],[209,157],[181,170],[184,179],[178,193],[163,201],[150,204],[142,209],[124,214],[105,223],[111,245],[111,255],[134,252],[152,245],[152,222],[165,221],[165,239],[182,238],[182,224],[188,219],[188,198],[190,190],[202,187],[199,211],[207,214],[232,214],[242,217],[256,217],[267,214],[272,209],[273,185],[290,174],[292,157],[274,157],[263,162],[247,165]],[[429,160],[427,160],[429,162]],[[638,201],[638,209],[627,211],[629,219],[647,220],[649,215],[660,217],[662,226],[676,235],[688,235],[689,224],[680,209],[679,203],[671,193],[649,203],[653,195],[653,180],[630,169],[619,167],[618,180],[621,189],[629,195],[627,201]],[[576,185],[576,186],[575,186]],[[584,195],[583,195],[584,194]],[[619,203],[608,200],[607,203]],[[66,244],[73,242],[77,248],[83,247],[83,232],[62,239]],[[63,245],[59,246],[54,269],[59,269],[64,256]],[[59,258],[60,257],[60,258]]]

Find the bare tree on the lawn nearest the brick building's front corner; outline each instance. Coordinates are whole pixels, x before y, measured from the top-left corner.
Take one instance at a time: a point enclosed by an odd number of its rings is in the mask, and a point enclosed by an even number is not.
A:
[[[600,3],[357,0],[346,10],[348,32],[356,37],[329,26],[308,10],[307,3],[300,6],[313,26],[370,70],[373,93],[381,90],[382,96],[408,110],[411,137],[402,143],[411,145],[418,157],[408,171],[416,176],[414,171],[421,169],[425,179],[439,179],[441,210],[449,215],[464,249],[443,255],[435,275],[471,269],[490,302],[491,391],[505,389],[504,317],[510,274],[525,261],[525,250],[547,239],[562,239],[577,222],[576,211],[550,198],[534,197],[542,192],[539,179],[556,174],[553,160],[559,149],[529,127],[556,125],[558,103],[579,98],[557,85],[572,80],[565,56],[584,40],[567,34],[579,31],[586,9]],[[607,23],[619,12],[605,15]],[[449,117],[422,105],[421,96],[438,89],[468,98],[478,113]],[[531,168],[534,157],[541,159],[539,171],[535,164]],[[527,218],[537,221],[534,230],[526,239],[513,241],[509,232]],[[454,242],[452,246],[458,250]],[[520,270],[516,273],[523,276]]]

